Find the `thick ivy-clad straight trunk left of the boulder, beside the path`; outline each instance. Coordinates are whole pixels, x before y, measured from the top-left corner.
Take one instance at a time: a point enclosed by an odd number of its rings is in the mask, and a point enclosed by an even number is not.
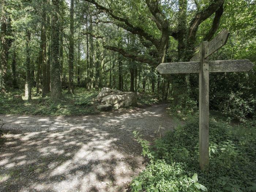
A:
[[[50,86],[53,101],[59,101],[61,94],[60,80],[60,29],[59,29],[59,0],[52,0],[55,12],[52,15],[52,59],[50,71]]]

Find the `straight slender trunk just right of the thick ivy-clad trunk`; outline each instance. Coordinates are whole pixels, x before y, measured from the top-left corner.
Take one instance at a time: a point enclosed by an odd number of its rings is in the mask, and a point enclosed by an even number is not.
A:
[[[68,93],[74,94],[74,0],[70,1],[70,37],[68,61]]]

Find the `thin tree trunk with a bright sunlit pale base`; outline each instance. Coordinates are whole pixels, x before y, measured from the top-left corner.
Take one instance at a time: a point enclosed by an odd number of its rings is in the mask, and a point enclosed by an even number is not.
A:
[[[27,101],[31,101],[31,86],[32,86],[32,80],[31,80],[31,71],[30,71],[30,39],[31,34],[30,31],[26,30],[26,82],[25,82],[25,99]]]

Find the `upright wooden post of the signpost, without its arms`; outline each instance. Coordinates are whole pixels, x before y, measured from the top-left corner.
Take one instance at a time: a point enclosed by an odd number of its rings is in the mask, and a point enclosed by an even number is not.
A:
[[[209,61],[205,58],[208,45],[204,41],[199,49],[199,166],[202,171],[207,171],[209,165]]]

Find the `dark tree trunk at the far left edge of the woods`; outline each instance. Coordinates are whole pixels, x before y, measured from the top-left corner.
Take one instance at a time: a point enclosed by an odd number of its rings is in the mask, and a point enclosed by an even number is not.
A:
[[[5,0],[1,0],[2,6],[2,15],[1,15],[1,61],[0,61],[0,93],[6,92],[6,70],[7,70],[7,54],[8,54],[8,46],[7,46],[7,31],[6,31],[6,12],[5,12]]]

